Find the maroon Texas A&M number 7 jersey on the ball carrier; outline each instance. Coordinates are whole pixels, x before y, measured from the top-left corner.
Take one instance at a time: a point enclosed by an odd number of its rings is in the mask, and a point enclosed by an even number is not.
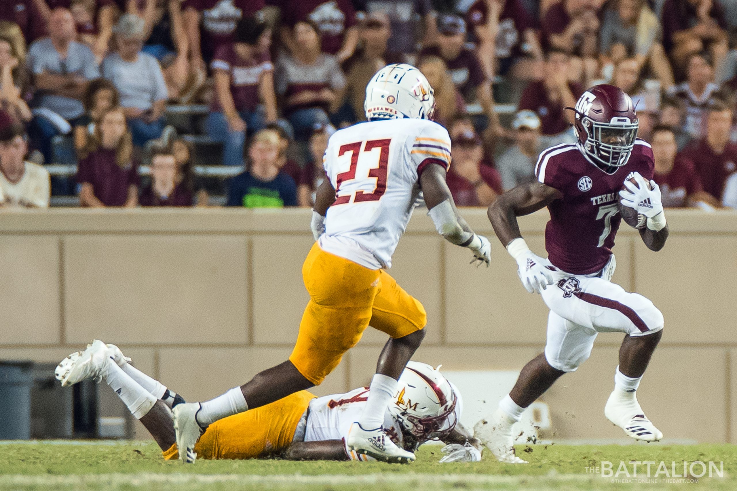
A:
[[[576,144],[551,146],[540,154],[537,180],[563,194],[548,205],[545,250],[553,266],[589,275],[607,264],[621,222],[619,191],[631,172],[645,180],[654,172],[652,148],[640,138],[627,163],[611,175],[590,163]]]

